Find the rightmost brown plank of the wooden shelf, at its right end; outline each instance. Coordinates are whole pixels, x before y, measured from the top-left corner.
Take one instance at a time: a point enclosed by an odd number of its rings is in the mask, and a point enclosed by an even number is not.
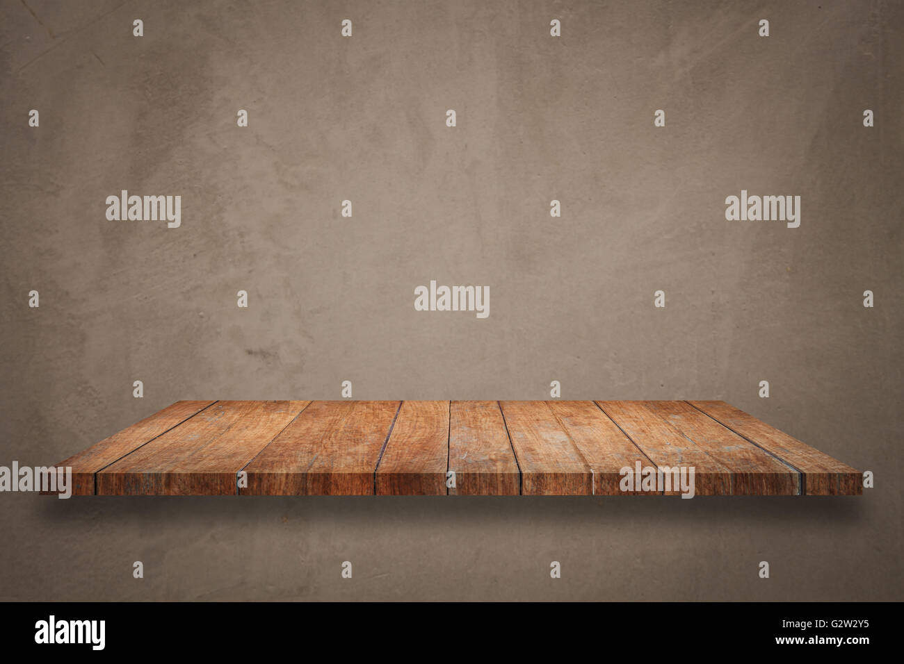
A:
[[[769,426],[756,417],[730,406],[724,401],[690,401],[731,431],[743,436],[803,474],[806,495],[861,495],[862,474],[846,463],[802,443],[791,435]]]

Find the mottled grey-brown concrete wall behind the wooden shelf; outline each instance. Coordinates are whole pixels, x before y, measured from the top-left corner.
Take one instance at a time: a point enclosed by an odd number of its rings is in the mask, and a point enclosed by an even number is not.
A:
[[[0,464],[182,398],[547,398],[555,379],[724,399],[876,487],[2,493],[0,599],[901,599],[902,10],[4,2]],[[181,195],[181,227],[108,221],[122,189]],[[800,227],[726,220],[742,189],[800,195]],[[431,279],[489,285],[489,317],[415,311]]]

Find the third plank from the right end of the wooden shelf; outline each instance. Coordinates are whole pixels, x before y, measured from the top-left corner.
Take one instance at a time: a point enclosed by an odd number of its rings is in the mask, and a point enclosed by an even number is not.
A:
[[[598,401],[606,415],[634,441],[654,466],[693,467],[695,495],[729,495],[731,470],[658,416],[645,401]],[[657,487],[658,489],[658,487]],[[681,491],[657,491],[678,495]]]

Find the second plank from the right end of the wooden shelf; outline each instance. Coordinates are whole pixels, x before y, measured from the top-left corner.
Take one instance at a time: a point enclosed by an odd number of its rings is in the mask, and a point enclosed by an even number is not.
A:
[[[795,468],[751,444],[685,401],[647,401],[646,406],[731,470],[732,495],[796,496]]]

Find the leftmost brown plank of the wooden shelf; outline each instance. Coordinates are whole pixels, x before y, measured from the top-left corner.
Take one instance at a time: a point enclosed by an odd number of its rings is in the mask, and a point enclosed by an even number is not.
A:
[[[59,467],[72,468],[72,495],[94,495],[95,473],[154,440],[158,435],[182,424],[213,403],[213,401],[176,401],[172,406],[165,407],[154,415],[91,445],[87,450],[82,450],[57,463]]]

